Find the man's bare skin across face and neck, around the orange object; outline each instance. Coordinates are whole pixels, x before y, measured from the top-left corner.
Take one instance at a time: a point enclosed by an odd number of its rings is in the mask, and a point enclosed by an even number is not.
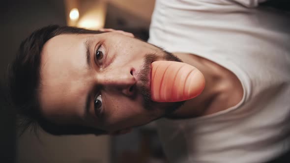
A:
[[[124,134],[134,126],[163,116],[202,116],[227,109],[241,100],[241,84],[228,70],[192,54],[170,54],[133,37],[126,32],[107,32],[63,34],[50,39],[42,51],[40,70],[39,101],[44,117],[56,124]],[[102,58],[96,57],[97,51],[103,53]],[[181,61],[176,56],[203,73],[206,81],[203,93],[185,103],[151,101],[150,63]],[[87,99],[90,107],[86,110]],[[94,107],[95,99],[101,100],[101,107]]]

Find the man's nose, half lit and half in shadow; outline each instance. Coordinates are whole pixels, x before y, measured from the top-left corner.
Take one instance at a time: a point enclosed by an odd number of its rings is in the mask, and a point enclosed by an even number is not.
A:
[[[98,83],[107,90],[121,92],[126,96],[134,95],[137,80],[134,68],[116,68],[99,75]]]

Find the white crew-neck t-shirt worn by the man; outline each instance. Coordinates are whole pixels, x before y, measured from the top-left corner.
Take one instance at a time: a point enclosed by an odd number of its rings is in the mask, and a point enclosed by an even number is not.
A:
[[[244,90],[232,108],[156,121],[170,163],[263,163],[290,149],[290,13],[258,1],[156,0],[148,42],[214,61]]]

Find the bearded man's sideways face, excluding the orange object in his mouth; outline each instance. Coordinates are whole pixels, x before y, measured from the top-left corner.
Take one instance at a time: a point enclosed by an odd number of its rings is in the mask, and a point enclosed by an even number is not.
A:
[[[42,51],[41,111],[57,124],[108,132],[146,124],[181,105],[150,100],[150,63],[156,60],[179,61],[114,32],[53,37]]]

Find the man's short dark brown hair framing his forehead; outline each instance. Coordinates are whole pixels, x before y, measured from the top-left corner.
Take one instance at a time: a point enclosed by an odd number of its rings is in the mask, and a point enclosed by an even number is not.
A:
[[[105,134],[102,130],[83,126],[57,125],[46,120],[39,109],[38,92],[41,81],[40,60],[45,43],[60,34],[99,34],[96,30],[57,25],[35,30],[25,39],[8,66],[8,88],[12,107],[15,109],[21,134],[29,127],[40,126],[52,135]]]

